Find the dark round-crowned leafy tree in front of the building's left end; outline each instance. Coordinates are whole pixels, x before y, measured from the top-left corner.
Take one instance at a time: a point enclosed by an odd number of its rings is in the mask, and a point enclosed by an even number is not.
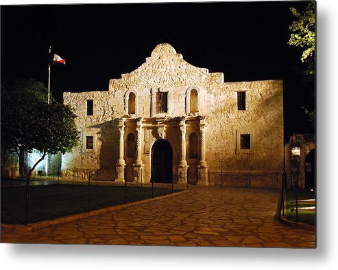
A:
[[[51,99],[42,82],[16,80],[1,84],[1,147],[19,157],[21,175],[29,180],[33,170],[46,155],[70,152],[77,146],[75,114],[69,106]],[[42,154],[27,172],[23,155],[36,149]]]

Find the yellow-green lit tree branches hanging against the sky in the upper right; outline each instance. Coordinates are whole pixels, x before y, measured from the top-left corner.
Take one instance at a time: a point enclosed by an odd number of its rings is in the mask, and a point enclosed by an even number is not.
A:
[[[309,65],[306,74],[315,73],[315,1],[309,1],[303,12],[290,8],[295,21],[289,26],[291,33],[288,44],[303,48],[300,60]]]

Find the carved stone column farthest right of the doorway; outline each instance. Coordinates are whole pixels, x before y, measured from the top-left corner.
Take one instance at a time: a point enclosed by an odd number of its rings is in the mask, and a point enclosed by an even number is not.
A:
[[[208,165],[206,164],[206,117],[200,117],[200,161],[198,162],[197,185],[208,185]]]

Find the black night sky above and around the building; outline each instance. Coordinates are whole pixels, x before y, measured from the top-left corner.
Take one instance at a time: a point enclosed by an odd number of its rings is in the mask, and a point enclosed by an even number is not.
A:
[[[51,91],[108,90],[110,78],[133,71],[158,43],[191,65],[223,72],[226,82],[281,79],[285,139],[314,132],[302,106],[313,108],[314,80],[302,50],[287,45],[290,7],[306,2],[130,3],[1,6],[1,80],[48,82],[48,49],[66,60],[51,68]]]

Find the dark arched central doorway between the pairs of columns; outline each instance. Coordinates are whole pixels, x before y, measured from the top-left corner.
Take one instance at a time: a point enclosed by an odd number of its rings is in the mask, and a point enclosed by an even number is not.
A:
[[[154,183],[173,180],[173,148],[165,139],[158,139],[152,147],[152,177]]]

